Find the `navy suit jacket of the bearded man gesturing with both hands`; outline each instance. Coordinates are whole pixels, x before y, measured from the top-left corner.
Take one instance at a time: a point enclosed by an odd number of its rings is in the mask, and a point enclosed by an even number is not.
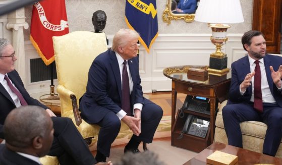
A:
[[[270,91],[278,103],[280,107],[282,107],[282,97],[281,91],[279,91],[276,85],[273,83],[271,78],[271,71],[269,66],[272,66],[274,71],[277,71],[279,66],[282,65],[282,58],[279,56],[273,56],[270,54],[266,54],[263,58],[264,67],[266,72],[267,82],[270,88]],[[244,95],[240,94],[239,86],[244,81],[246,75],[250,73],[250,62],[248,56],[239,59],[231,65],[232,68],[232,78],[231,78],[231,86],[229,91],[229,104],[237,103],[237,102],[249,102],[252,96],[252,86],[250,85]]]

